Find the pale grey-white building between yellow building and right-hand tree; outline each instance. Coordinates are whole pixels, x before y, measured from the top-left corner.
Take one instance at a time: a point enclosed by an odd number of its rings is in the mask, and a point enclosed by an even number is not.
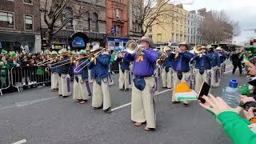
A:
[[[202,27],[204,25],[204,17],[196,14],[195,10],[188,13],[188,39],[191,45],[202,45],[204,39],[202,37]]]

